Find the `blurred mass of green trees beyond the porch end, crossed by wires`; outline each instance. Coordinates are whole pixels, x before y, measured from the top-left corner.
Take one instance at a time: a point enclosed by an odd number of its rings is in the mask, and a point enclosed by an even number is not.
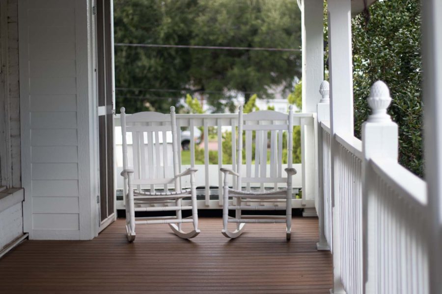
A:
[[[299,49],[301,14],[294,0],[114,0],[115,43]],[[214,110],[268,86],[290,88],[298,51],[115,47],[117,108],[168,112],[203,93]]]

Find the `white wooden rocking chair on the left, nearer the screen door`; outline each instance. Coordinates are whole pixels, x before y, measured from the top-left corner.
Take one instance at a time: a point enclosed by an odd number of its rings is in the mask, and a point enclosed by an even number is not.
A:
[[[197,236],[200,233],[195,190],[197,170],[190,168],[179,173],[175,107],[170,107],[170,115],[139,112],[130,116],[126,116],[125,109],[122,107],[121,132],[123,136],[123,172],[121,175],[124,177],[128,241],[135,240],[136,224],[167,223],[178,237],[189,239]],[[133,143],[133,160],[131,161],[133,165],[129,166],[126,137],[128,133],[132,133]],[[169,154],[170,137],[172,138],[172,156]],[[170,159],[172,163],[169,162]],[[173,167],[170,164],[173,164]],[[191,188],[182,190],[180,178],[185,175],[190,175]],[[147,188],[149,188],[148,192],[142,190]],[[169,191],[170,188],[173,191]],[[159,192],[159,189],[162,191]],[[182,206],[181,200],[184,197],[191,197],[192,205]],[[183,219],[182,210],[190,209],[192,209],[191,219]],[[176,211],[176,216],[136,218],[136,211]],[[193,222],[193,231],[186,233],[181,229],[181,224],[185,222]]]

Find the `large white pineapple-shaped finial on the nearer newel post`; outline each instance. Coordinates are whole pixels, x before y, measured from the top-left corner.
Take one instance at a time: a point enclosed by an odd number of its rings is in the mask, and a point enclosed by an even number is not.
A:
[[[391,122],[391,117],[387,114],[387,108],[391,103],[390,90],[383,81],[376,81],[370,89],[367,98],[371,108],[371,115],[368,117],[369,123]]]

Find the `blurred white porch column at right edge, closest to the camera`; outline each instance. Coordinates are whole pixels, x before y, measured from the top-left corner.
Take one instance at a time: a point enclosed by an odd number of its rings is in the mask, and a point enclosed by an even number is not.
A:
[[[422,1],[425,177],[431,211],[430,293],[442,293],[442,1]]]

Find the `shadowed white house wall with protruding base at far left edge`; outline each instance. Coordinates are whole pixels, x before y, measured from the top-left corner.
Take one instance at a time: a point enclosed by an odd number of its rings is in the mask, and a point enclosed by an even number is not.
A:
[[[0,0],[0,44],[1,251],[23,235],[17,0]]]

